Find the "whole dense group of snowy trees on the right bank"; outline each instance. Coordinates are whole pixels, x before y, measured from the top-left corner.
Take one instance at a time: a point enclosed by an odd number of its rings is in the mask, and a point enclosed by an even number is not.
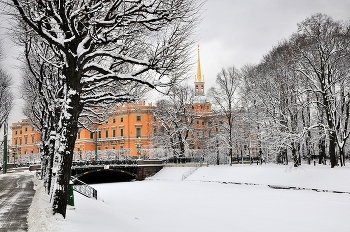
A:
[[[290,149],[294,165],[300,155],[310,157],[316,151],[324,162],[326,145],[331,167],[338,164],[336,152],[340,165],[345,165],[349,58],[349,25],[316,14],[298,24],[298,32],[275,46],[260,64],[246,70],[246,97],[264,118],[252,121],[260,129],[265,126],[265,132],[274,130],[270,136],[279,141],[274,144],[280,156]]]

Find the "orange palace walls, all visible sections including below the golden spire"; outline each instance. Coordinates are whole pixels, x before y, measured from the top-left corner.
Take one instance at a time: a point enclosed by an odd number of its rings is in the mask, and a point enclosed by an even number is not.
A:
[[[210,143],[211,135],[217,133],[219,121],[223,119],[213,114],[210,103],[194,103],[191,107],[197,115],[193,124],[196,134],[191,136],[198,137],[198,139],[190,149],[203,149]],[[92,132],[87,129],[79,131],[75,143],[74,159],[87,159],[87,156],[84,156],[86,153],[90,154],[89,159],[95,159],[96,151],[97,158],[106,158],[108,150],[112,150],[111,153],[115,156],[116,152],[133,158],[140,155],[147,156],[148,154],[140,154],[138,151],[144,152],[152,148],[153,109],[152,104],[145,102],[124,104],[112,109],[109,112],[107,123],[91,128]],[[33,159],[28,155],[39,153],[39,133],[29,124],[28,119],[13,123],[11,129],[10,156],[17,154],[18,160],[21,160],[21,156],[26,157],[27,160]]]

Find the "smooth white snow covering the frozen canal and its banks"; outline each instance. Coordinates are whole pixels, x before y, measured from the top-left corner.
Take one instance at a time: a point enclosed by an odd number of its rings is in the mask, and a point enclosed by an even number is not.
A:
[[[267,186],[350,192],[349,167],[210,166],[182,181],[189,170],[164,168],[145,181],[94,185],[99,199],[75,193],[66,219],[47,216],[49,199],[36,181],[29,231],[350,231],[349,193]]]

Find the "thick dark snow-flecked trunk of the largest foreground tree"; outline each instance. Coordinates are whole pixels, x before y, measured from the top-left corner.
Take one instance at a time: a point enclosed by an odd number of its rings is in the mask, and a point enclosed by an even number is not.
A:
[[[74,51],[76,48],[73,48]],[[68,185],[70,181],[74,145],[78,133],[78,119],[83,110],[80,102],[81,84],[80,75],[77,73],[76,58],[66,54],[67,67],[63,68],[66,82],[63,84],[62,92],[59,93],[62,105],[59,109],[59,120],[56,129],[55,157],[52,170],[53,212],[66,217]],[[58,111],[56,111],[58,115]],[[52,198],[51,198],[52,199]]]

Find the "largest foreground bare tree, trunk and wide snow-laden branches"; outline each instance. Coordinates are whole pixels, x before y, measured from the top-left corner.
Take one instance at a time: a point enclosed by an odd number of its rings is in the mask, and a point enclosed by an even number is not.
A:
[[[100,102],[137,99],[128,91],[132,86],[158,89],[179,81],[189,67],[188,48],[199,4],[194,0],[12,2],[15,15],[47,41],[60,60],[59,117],[50,133],[56,140],[51,196],[54,213],[65,217],[82,112]]]

